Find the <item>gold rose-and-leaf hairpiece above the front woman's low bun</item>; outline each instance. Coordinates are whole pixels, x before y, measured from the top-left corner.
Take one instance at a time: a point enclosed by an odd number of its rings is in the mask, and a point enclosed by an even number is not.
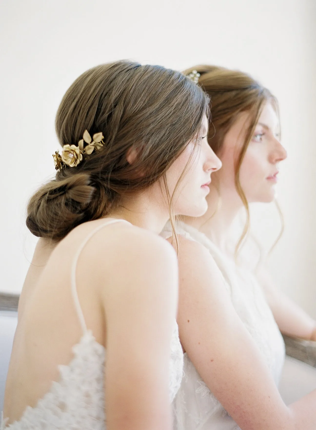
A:
[[[78,146],[76,145],[64,145],[61,154],[59,151],[55,151],[53,154],[55,169],[61,170],[64,166],[76,167],[82,161],[82,154],[92,154],[94,149],[97,151],[103,147],[103,134],[95,133],[93,137],[85,130],[83,133],[83,139],[79,140]],[[87,144],[84,147],[84,142]]]

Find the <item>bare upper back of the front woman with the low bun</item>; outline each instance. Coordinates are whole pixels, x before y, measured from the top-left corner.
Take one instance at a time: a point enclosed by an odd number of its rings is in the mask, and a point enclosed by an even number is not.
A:
[[[165,245],[152,233],[117,221],[100,219],[76,227],[49,250],[46,264],[35,273],[36,283],[24,296],[9,365],[4,416],[10,422],[19,420],[26,406],[34,408],[49,393],[52,381],[59,379],[60,365],[68,366],[76,359],[73,346],[80,345],[88,330],[94,336],[88,340],[94,342],[95,361],[99,369],[102,366],[104,302],[119,290],[118,265],[120,276],[125,277],[125,269],[131,267],[120,265],[122,255],[128,259],[142,243],[147,247],[151,243],[154,253],[157,240],[159,246]],[[137,259],[134,266],[137,270]],[[104,396],[103,381],[101,387]]]

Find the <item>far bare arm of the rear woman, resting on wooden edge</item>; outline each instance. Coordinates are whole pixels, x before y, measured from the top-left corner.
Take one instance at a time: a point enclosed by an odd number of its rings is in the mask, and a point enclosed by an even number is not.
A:
[[[316,341],[316,321],[276,288],[267,270],[258,270],[257,277],[280,331],[284,335]]]

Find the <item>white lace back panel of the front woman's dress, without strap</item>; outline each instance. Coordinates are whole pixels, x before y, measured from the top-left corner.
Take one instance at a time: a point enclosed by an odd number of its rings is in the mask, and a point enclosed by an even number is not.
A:
[[[32,408],[27,406],[21,419],[2,429],[105,429],[104,362],[105,348],[91,330],[72,348],[74,357],[69,365],[59,365],[59,382]]]

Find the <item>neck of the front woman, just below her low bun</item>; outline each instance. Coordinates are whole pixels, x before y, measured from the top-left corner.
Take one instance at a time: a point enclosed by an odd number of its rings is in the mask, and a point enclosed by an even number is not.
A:
[[[108,216],[125,219],[137,227],[159,234],[169,219],[168,208],[161,202],[159,194],[160,189],[147,189],[125,197]]]

